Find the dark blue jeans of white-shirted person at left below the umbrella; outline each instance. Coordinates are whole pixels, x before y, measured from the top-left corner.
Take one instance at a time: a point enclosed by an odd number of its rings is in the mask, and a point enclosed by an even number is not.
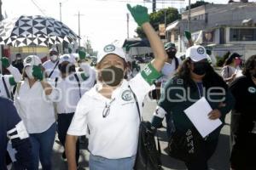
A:
[[[37,170],[39,160],[44,170],[51,169],[51,154],[55,141],[56,123],[43,133],[30,133],[32,143],[32,167],[30,170]]]

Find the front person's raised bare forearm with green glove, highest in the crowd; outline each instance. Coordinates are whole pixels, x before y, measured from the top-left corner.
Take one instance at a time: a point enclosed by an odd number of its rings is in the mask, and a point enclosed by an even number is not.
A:
[[[143,27],[143,31],[148,37],[148,41],[150,42],[150,46],[154,53],[152,65],[157,71],[161,71],[167,60],[167,54],[160,37],[156,34],[153,27],[149,23],[148,8],[141,5],[131,7],[130,4],[127,4],[127,8],[130,10],[131,15],[133,16],[134,20],[136,20],[138,26]]]

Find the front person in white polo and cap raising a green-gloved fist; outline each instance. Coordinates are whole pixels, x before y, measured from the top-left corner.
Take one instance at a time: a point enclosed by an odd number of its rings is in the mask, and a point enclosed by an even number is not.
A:
[[[139,116],[143,99],[154,88],[167,59],[160,38],[148,22],[148,10],[143,6],[131,8],[132,16],[143,27],[154,52],[154,60],[131,81],[124,79],[127,71],[122,48],[109,44],[97,57],[98,83],[80,99],[67,131],[66,153],[70,170],[77,168],[75,144],[78,136],[89,128],[89,167],[93,170],[131,170],[136,154]],[[134,95],[136,95],[136,98]]]

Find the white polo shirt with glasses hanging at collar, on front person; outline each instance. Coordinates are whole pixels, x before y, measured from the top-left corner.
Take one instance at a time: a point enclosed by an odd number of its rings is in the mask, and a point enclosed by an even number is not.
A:
[[[96,84],[79,101],[67,133],[75,136],[84,135],[88,125],[89,150],[94,156],[119,159],[135,156],[137,153],[139,116],[128,85],[136,94],[142,111],[145,95],[154,88],[154,85],[150,86],[145,81],[142,74],[137,74],[130,82],[123,80],[121,86],[113,91],[111,99],[99,94],[101,85]],[[110,110],[104,118],[102,112],[106,105],[110,105]]]

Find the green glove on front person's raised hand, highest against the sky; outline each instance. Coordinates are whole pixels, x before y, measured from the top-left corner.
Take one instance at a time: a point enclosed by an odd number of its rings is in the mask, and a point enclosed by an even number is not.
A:
[[[130,4],[127,4],[127,8],[129,9],[134,20],[137,22],[138,26],[143,26],[145,22],[149,22],[148,8],[141,5],[131,7]]]

